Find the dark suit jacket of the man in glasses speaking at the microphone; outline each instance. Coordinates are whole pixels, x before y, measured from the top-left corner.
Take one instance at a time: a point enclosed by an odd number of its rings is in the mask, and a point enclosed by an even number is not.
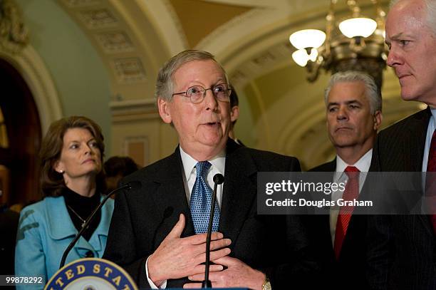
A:
[[[299,217],[256,214],[256,173],[299,170],[294,157],[242,147],[231,139],[227,143],[218,230],[232,239],[231,256],[264,271],[274,289],[305,283],[316,264],[308,258],[308,240]],[[174,227],[180,213],[187,217],[182,237],[194,234],[179,148],[123,182],[133,180],[142,186],[116,197],[104,257],[123,266],[138,286],[149,287],[145,260]],[[168,280],[167,287],[186,282],[186,278]]]

